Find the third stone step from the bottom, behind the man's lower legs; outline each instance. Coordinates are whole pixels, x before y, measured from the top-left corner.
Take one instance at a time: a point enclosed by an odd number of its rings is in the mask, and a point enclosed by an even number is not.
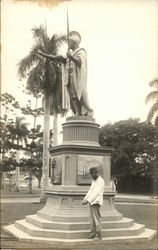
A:
[[[57,230],[88,230],[90,228],[89,222],[53,222],[44,218],[41,218],[37,214],[26,216],[26,222],[29,222],[35,226],[45,229],[57,229]],[[134,224],[133,219],[123,218],[120,221],[102,221],[103,229],[111,228],[128,228]]]

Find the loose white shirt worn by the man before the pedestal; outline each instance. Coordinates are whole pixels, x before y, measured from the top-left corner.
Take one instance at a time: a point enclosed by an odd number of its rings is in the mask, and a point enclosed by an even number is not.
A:
[[[90,205],[103,205],[104,186],[105,182],[101,176],[99,176],[96,180],[93,180],[88,193],[84,197],[84,200],[87,200]]]

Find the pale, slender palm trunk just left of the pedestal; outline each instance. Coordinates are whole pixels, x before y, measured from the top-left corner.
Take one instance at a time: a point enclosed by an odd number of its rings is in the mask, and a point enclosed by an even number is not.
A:
[[[50,96],[44,98],[43,166],[40,203],[46,202],[45,190],[49,181]]]

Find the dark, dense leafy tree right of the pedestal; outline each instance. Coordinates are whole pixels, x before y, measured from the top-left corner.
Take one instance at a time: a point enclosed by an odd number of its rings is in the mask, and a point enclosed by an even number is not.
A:
[[[151,176],[158,142],[156,127],[139,119],[108,123],[100,130],[100,144],[114,148],[112,176]]]

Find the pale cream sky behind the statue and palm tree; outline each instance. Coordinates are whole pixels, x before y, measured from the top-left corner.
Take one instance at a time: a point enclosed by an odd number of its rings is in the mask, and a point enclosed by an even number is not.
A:
[[[1,1],[1,83],[24,104],[17,64],[33,45],[31,29],[47,25],[48,35],[70,30],[81,36],[88,56],[88,95],[100,125],[129,118],[144,121],[145,97],[158,77],[158,1],[72,0],[53,8],[29,1]]]

